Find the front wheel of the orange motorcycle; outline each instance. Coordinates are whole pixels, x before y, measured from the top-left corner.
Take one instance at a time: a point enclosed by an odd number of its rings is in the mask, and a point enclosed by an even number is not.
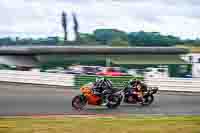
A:
[[[78,95],[72,99],[72,107],[76,110],[82,110],[83,107],[86,105],[87,100],[85,96]]]

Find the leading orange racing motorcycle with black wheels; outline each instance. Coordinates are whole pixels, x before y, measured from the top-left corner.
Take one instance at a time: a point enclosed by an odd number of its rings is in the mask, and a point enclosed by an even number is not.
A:
[[[95,95],[92,90],[92,85],[87,84],[80,88],[82,94],[75,96],[72,99],[72,107],[81,110],[84,106],[95,105],[103,106],[104,103],[108,108],[116,108],[121,103],[121,94],[118,90],[112,92],[103,92],[105,96],[102,98],[100,95]]]

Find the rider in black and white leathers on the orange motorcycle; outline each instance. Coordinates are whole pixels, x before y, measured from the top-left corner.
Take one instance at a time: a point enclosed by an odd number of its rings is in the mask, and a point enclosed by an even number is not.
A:
[[[112,82],[106,78],[97,79],[96,82],[93,84],[93,93],[98,95],[102,99],[103,105],[106,104],[106,97],[107,93],[112,92]]]

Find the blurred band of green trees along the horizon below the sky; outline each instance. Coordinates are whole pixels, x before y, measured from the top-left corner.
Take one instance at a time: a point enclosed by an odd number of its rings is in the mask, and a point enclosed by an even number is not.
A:
[[[159,32],[130,32],[117,29],[96,29],[93,33],[80,33],[78,41],[66,41],[55,36],[47,38],[0,38],[1,45],[110,45],[110,46],[200,46],[200,39],[181,40],[172,35],[162,35]]]

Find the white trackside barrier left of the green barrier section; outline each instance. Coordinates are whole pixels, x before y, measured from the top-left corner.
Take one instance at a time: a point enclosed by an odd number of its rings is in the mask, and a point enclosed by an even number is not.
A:
[[[74,86],[74,76],[69,74],[55,74],[31,71],[0,70],[0,81]]]

